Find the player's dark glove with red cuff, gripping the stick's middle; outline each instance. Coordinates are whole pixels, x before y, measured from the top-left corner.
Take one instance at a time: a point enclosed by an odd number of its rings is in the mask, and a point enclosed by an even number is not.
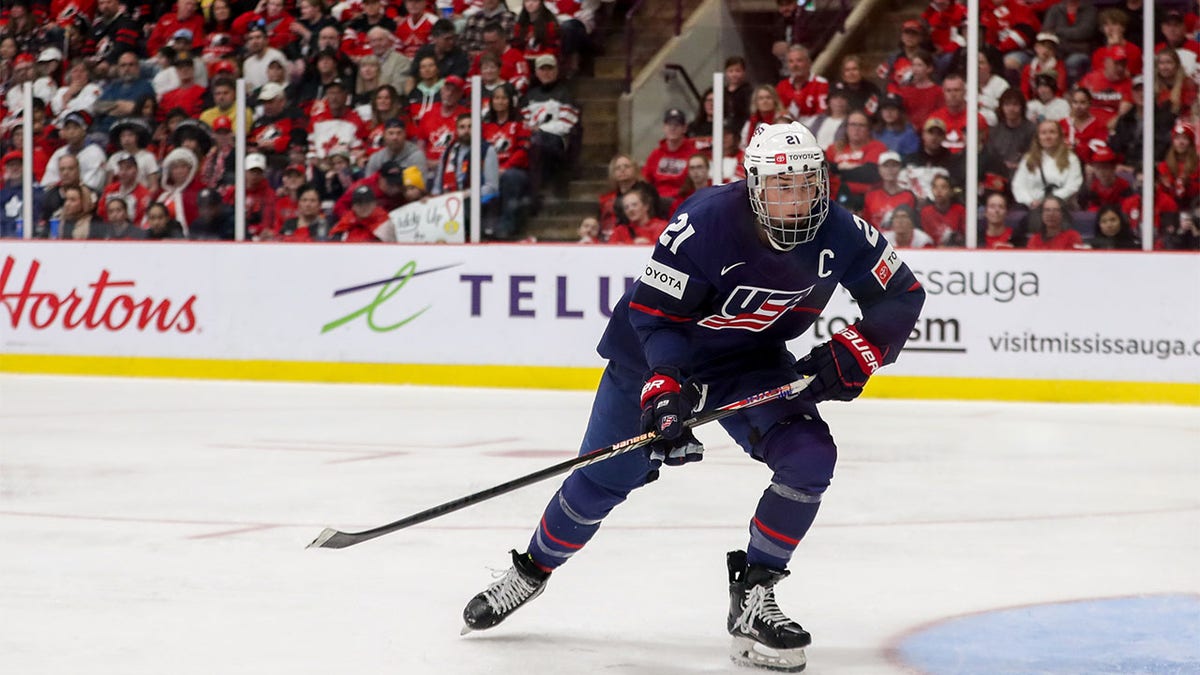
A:
[[[695,382],[680,384],[679,380],[677,370],[662,369],[652,374],[642,387],[642,429],[661,436],[650,444],[654,468],[704,459],[704,446],[684,425],[700,402],[701,389]]]

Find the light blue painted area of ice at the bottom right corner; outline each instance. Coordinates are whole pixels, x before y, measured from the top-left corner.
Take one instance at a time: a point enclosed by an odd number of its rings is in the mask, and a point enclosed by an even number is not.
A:
[[[893,650],[928,675],[1200,673],[1200,596],[1090,599],[973,614]]]

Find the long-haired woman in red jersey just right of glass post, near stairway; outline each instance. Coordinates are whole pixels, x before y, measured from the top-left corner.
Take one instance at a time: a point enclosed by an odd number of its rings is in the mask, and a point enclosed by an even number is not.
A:
[[[517,92],[502,84],[484,115],[484,141],[496,149],[500,169],[500,220],[496,237],[506,239],[524,227],[529,208],[529,127],[516,110]]]

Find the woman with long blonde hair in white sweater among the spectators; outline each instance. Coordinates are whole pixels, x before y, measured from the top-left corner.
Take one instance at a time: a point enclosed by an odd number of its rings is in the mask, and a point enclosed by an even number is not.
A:
[[[1073,198],[1082,185],[1084,171],[1062,127],[1049,120],[1038,124],[1038,136],[1013,175],[1013,198],[1032,211],[1049,196]]]

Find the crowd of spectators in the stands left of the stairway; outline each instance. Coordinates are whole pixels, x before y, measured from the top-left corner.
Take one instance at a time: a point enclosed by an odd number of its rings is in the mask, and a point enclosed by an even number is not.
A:
[[[232,239],[240,78],[248,238],[372,241],[388,211],[467,189],[474,74],[484,233],[517,237],[570,175],[566,80],[588,67],[601,0],[520,5],[6,0],[0,237],[25,227],[25,83],[34,237]]]

